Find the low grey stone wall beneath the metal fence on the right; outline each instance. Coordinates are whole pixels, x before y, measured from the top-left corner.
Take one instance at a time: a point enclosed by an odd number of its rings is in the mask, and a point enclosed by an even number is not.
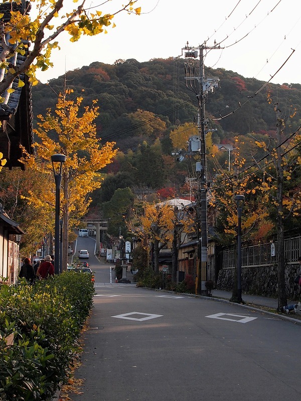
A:
[[[286,295],[288,299],[296,299],[298,285],[294,278],[299,271],[299,265],[288,265],[285,268]],[[235,269],[221,269],[218,274],[217,288],[232,291]],[[242,293],[277,298],[277,265],[267,267],[241,268]]]

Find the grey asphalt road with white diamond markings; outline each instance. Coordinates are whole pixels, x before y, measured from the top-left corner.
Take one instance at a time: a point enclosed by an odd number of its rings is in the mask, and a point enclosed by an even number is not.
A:
[[[89,263],[96,293],[75,374],[85,381],[72,400],[300,397],[300,326],[236,305],[110,284],[109,265],[94,256]]]

